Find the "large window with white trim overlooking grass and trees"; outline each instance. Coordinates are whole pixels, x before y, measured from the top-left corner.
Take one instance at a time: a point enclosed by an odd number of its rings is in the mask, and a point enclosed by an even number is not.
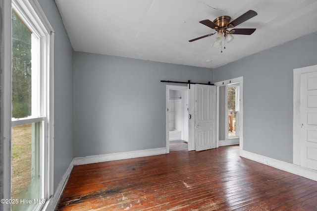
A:
[[[51,27],[32,0],[12,0],[12,210],[39,210],[52,195]]]

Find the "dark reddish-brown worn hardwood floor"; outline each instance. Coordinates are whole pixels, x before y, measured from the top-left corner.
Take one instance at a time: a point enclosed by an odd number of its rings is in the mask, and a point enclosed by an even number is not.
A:
[[[183,150],[181,150],[183,149]],[[317,211],[317,181],[239,157],[239,146],[74,166],[56,210]]]

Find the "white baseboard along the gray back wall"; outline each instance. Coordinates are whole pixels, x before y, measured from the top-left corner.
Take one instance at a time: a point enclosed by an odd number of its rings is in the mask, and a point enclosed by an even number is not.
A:
[[[140,158],[140,157],[156,156],[156,155],[162,155],[162,154],[166,154],[165,147],[156,148],[156,149],[148,149],[148,150],[137,150],[137,151],[130,151],[130,152],[74,158],[74,165],[83,165],[83,164],[105,162],[105,161],[118,160],[118,159]]]

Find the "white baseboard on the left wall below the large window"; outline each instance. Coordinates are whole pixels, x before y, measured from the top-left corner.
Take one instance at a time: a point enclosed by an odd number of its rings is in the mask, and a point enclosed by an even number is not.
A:
[[[45,209],[46,211],[54,211],[56,206],[57,206],[57,203],[60,199],[60,196],[61,194],[63,193],[63,190],[65,188],[65,185],[68,181],[68,178],[69,178],[69,175],[70,175],[70,172],[71,170],[73,169],[74,167],[74,159],[71,161],[71,163],[69,164],[66,172],[64,173],[62,179],[60,180],[58,186],[57,186],[57,189],[56,191],[54,192],[53,194],[53,197],[50,199],[49,201],[49,204],[47,206],[47,208]]]

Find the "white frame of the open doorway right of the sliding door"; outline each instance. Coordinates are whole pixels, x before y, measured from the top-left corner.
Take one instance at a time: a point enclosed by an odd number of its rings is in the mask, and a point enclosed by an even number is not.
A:
[[[230,85],[230,84],[236,84],[239,83],[240,86],[240,103],[239,103],[239,118],[238,118],[238,130],[239,130],[239,154],[242,156],[243,153],[243,76],[233,79],[228,79],[224,81],[219,81],[214,83],[215,86],[217,86],[217,96],[216,96],[216,147],[219,147],[219,87]]]

